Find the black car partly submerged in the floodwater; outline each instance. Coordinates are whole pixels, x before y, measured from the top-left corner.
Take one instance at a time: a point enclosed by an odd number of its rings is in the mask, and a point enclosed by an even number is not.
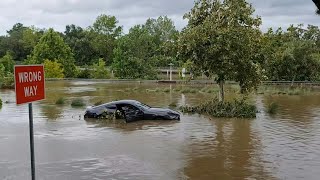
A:
[[[113,101],[103,105],[88,107],[85,118],[104,118],[115,115],[126,122],[138,120],[180,120],[180,114],[171,109],[152,108],[135,100]]]

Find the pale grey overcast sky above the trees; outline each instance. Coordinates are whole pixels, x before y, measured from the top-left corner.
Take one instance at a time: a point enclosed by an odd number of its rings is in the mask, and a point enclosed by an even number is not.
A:
[[[167,15],[180,30],[193,0],[0,0],[0,35],[17,23],[63,32],[67,24],[90,26],[99,14],[114,15],[125,32],[147,18]],[[312,0],[249,0],[262,17],[262,30],[290,24],[320,26]]]

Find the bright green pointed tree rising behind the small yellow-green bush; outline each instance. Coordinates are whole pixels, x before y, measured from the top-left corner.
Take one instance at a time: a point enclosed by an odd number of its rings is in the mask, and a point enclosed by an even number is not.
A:
[[[57,61],[62,64],[64,75],[67,78],[75,76],[76,67],[72,51],[70,47],[65,44],[59,33],[53,29],[49,29],[41,37],[27,63],[41,64],[45,59],[57,59]]]

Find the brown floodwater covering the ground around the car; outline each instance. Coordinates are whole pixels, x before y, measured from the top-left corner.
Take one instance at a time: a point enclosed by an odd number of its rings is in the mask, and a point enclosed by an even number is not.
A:
[[[85,121],[70,101],[136,99],[152,106],[194,105],[210,94],[146,91],[175,85],[47,82],[47,99],[36,102],[36,174],[41,180],[319,179],[320,96],[254,98],[256,119],[215,119],[184,114],[180,122]],[[202,88],[202,87],[199,87]],[[132,91],[135,89],[135,91]],[[30,179],[28,107],[1,90],[0,179]],[[64,106],[55,100],[66,97]],[[275,116],[265,107],[275,101]]]

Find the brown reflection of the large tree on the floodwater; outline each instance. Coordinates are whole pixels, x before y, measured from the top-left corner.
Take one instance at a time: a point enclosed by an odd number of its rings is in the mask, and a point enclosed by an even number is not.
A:
[[[259,156],[251,120],[212,120],[214,136],[192,140],[184,172],[190,179],[272,179]]]

